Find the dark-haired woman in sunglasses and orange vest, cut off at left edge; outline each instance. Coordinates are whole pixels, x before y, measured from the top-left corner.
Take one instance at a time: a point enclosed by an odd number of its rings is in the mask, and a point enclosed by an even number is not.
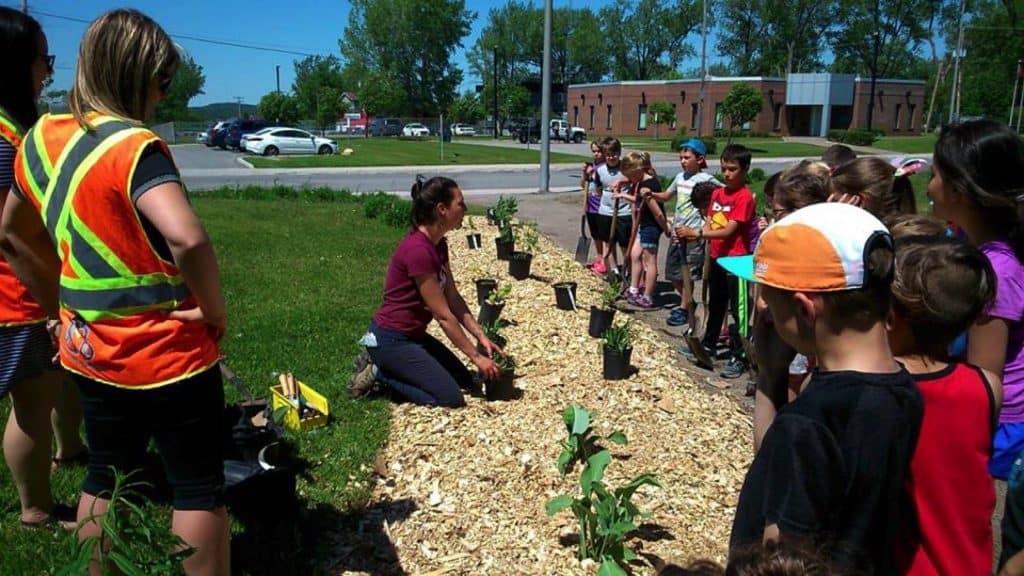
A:
[[[36,100],[52,72],[46,36],[39,23],[0,6],[0,210],[14,177],[14,156],[25,131],[39,117]],[[54,462],[86,456],[79,436],[78,390],[51,359],[46,313],[18,282],[0,255],[0,398],[10,393],[11,412],[3,438],[4,458],[22,501],[22,525],[51,526],[72,521],[70,506],[50,494],[50,442]],[[52,415],[52,417],[51,417]]]

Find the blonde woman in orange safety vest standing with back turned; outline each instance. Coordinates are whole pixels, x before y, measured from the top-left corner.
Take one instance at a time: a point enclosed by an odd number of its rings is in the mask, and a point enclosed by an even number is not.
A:
[[[79,537],[99,533],[89,519],[108,508],[112,468],[141,468],[153,439],[174,492],[172,530],[194,548],[184,571],[227,574],[219,271],[170,150],[142,124],[179,61],[136,10],[93,22],[72,114],[43,116],[26,135],[0,228],[15,274],[59,315],[60,362],[82,395],[91,452]]]

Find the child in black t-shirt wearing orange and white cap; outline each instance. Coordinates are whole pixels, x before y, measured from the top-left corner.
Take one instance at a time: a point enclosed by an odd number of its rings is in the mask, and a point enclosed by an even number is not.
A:
[[[860,208],[816,204],[765,231],[753,257],[719,263],[760,283],[782,339],[818,359],[751,464],[730,549],[809,540],[841,570],[894,573],[923,406],[887,341],[892,237]]]

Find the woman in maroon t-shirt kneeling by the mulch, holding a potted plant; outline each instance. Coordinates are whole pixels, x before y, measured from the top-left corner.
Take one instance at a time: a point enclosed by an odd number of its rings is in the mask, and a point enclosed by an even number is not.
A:
[[[466,202],[459,184],[436,176],[413,184],[413,231],[398,244],[384,280],[384,303],[364,338],[369,359],[356,361],[349,394],[364,396],[380,382],[415,404],[458,407],[466,404],[460,388],[472,376],[427,325],[437,320],[449,340],[465,354],[486,380],[501,376],[493,352],[501,353],[476,323],[459,294],[449,266],[449,231],[462,227]],[[486,354],[476,351],[465,328]],[[369,362],[372,361],[372,364]]]

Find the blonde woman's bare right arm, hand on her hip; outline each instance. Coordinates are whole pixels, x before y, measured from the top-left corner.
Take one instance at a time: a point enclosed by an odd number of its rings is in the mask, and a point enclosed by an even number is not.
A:
[[[185,193],[177,182],[154,187],[135,202],[138,211],[167,241],[174,263],[199,302],[196,311],[175,311],[172,317],[210,324],[219,337],[227,324],[224,295],[220,289],[220,270],[210,238],[193,211]]]

